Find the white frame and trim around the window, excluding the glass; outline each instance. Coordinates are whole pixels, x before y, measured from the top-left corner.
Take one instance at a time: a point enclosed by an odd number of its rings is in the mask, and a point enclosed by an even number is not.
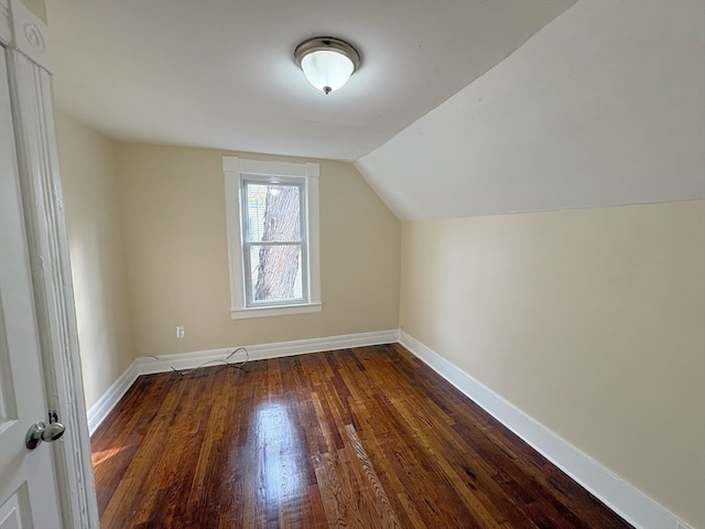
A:
[[[261,160],[245,160],[238,156],[223,156],[223,172],[225,174],[225,202],[228,235],[228,260],[230,263],[230,317],[240,320],[247,317],[282,316],[321,312],[321,259],[318,248],[318,176],[321,168],[317,163],[289,163]],[[307,278],[302,281],[303,302],[258,301],[250,306],[247,304],[247,289],[245,277],[245,238],[242,235],[242,182],[262,179],[278,179],[282,183],[289,181],[302,182],[304,191],[302,220],[305,224],[304,244],[305,261],[302,263],[302,274],[307,271]],[[307,263],[307,266],[306,266]],[[307,295],[306,295],[307,294]]]

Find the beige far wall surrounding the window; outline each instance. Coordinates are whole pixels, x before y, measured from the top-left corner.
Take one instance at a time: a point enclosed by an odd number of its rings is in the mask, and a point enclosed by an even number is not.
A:
[[[117,149],[137,356],[397,328],[401,225],[352,165],[319,161],[323,312],[234,321],[224,152]]]

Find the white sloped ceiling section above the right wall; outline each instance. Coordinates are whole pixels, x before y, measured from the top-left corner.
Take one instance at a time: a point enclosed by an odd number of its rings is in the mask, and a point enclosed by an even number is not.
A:
[[[705,198],[705,3],[583,0],[355,165],[403,219]]]

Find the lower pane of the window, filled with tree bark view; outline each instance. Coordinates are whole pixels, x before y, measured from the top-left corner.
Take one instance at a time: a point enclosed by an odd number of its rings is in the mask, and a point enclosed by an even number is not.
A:
[[[250,247],[252,300],[301,300],[301,246]]]

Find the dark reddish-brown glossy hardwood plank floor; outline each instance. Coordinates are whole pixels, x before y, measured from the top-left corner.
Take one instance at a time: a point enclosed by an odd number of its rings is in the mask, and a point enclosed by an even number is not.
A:
[[[104,528],[631,527],[398,344],[140,377],[91,444]]]

